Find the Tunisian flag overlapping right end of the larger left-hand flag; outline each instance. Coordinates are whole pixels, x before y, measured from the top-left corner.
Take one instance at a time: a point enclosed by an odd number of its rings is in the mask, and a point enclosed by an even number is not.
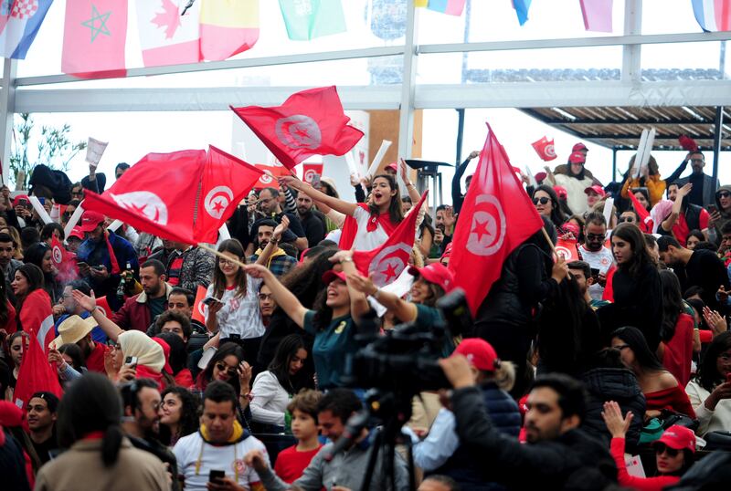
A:
[[[218,229],[259,181],[259,169],[211,145],[198,202],[194,233],[197,242],[216,244]]]

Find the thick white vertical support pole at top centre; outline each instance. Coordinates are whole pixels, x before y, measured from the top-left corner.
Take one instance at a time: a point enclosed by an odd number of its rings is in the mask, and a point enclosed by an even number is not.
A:
[[[414,2],[408,2],[406,22],[406,45],[404,47],[404,73],[401,80],[401,106],[398,117],[398,156],[411,157],[414,146],[414,96],[417,77],[417,23],[418,15]]]

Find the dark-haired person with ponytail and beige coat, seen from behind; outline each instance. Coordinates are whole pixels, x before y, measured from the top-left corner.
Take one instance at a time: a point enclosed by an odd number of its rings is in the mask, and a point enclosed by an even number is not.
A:
[[[167,491],[163,463],[132,448],[122,434],[119,392],[101,375],[89,373],[74,382],[58,405],[58,443],[69,448],[44,465],[37,491],[61,491],[79,486],[107,491],[119,489]]]

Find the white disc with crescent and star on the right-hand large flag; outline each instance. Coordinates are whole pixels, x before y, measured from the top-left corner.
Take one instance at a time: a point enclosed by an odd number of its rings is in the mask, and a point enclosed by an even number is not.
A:
[[[500,201],[493,195],[480,194],[474,203],[467,250],[477,256],[492,256],[503,246],[505,227]]]

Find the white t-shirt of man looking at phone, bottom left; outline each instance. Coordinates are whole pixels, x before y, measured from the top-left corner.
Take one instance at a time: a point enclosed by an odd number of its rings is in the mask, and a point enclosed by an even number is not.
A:
[[[201,453],[201,446],[203,452]],[[208,474],[211,470],[226,472],[226,476],[234,479],[238,469],[238,485],[250,489],[252,484],[261,479],[253,467],[244,464],[244,457],[251,450],[260,450],[269,461],[267,447],[254,436],[223,446],[214,446],[203,441],[199,432],[189,434],[178,440],[173,447],[180,474],[185,475],[185,491],[206,491]],[[196,463],[200,465],[196,472]]]

